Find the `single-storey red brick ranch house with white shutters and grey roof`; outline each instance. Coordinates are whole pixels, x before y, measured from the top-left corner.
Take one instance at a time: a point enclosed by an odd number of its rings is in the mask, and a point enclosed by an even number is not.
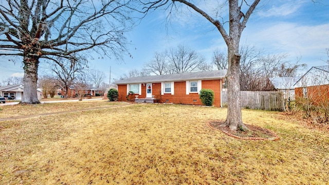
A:
[[[138,99],[157,99],[160,103],[202,105],[199,91],[202,88],[214,91],[214,106],[222,106],[222,89],[226,70],[179,73],[136,77],[116,81],[119,101],[133,91]],[[139,100],[140,101],[140,100]]]

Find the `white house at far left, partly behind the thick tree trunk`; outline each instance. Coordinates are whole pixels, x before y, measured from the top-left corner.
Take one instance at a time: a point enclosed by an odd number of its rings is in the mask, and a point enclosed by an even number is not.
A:
[[[22,100],[24,84],[7,85],[0,87],[0,95],[3,97],[15,97],[15,100]],[[36,89],[38,92],[38,99],[40,100],[42,95],[41,89]]]

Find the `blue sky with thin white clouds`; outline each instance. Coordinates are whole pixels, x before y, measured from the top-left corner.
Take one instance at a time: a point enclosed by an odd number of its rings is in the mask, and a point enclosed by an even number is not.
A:
[[[204,2],[204,1],[200,1]],[[211,14],[216,4],[213,0],[203,5]],[[319,0],[263,0],[251,15],[242,33],[241,44],[264,49],[269,54],[287,53],[288,60],[312,66],[327,65],[325,52],[329,48],[329,2]],[[186,10],[183,8],[183,10]],[[145,62],[152,60],[155,51],[163,51],[180,44],[202,54],[208,62],[213,51],[226,51],[226,44],[220,32],[204,17],[191,12],[175,14],[166,24],[167,11],[149,13],[133,31],[126,33],[128,46],[133,58],[124,56],[124,61],[98,59],[90,61],[90,66],[103,71],[109,78],[116,79],[132,69],[142,69]],[[224,18],[226,17],[223,16]],[[227,30],[228,31],[228,30]],[[43,73],[43,67],[39,73]],[[9,76],[23,76],[19,60],[14,64],[6,58],[0,59],[0,80]]]

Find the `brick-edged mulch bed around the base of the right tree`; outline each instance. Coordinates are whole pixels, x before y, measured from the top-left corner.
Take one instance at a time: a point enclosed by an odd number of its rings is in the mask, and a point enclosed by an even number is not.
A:
[[[259,126],[245,124],[249,131],[231,131],[227,126],[221,126],[224,121],[209,121],[208,125],[217,131],[222,131],[228,136],[244,140],[279,140],[275,133]]]

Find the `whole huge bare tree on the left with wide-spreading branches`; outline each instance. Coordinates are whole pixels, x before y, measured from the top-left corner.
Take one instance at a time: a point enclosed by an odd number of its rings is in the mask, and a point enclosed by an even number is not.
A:
[[[40,59],[77,59],[72,53],[96,51],[120,59],[125,31],[136,1],[21,0],[0,5],[0,55],[20,56],[24,65],[21,103],[40,103],[36,93]]]

